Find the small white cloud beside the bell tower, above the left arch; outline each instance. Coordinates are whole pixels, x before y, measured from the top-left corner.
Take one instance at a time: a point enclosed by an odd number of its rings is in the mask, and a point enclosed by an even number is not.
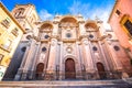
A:
[[[47,10],[43,9],[38,12],[38,15],[41,18],[42,21],[45,21],[45,20],[52,20],[53,19],[53,14],[50,13]]]

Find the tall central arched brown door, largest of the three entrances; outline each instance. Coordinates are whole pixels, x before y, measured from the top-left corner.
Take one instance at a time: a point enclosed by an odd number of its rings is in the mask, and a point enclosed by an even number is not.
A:
[[[73,58],[67,58],[65,62],[65,78],[66,79],[76,78],[75,62]]]

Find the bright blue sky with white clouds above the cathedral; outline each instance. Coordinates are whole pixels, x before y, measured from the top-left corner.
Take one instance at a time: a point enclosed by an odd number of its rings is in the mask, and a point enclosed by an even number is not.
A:
[[[98,16],[102,21],[108,16],[114,4],[114,0],[1,0],[11,11],[14,6],[23,3],[33,3],[42,20],[53,19],[57,14],[78,14],[81,13],[85,19],[95,19]]]

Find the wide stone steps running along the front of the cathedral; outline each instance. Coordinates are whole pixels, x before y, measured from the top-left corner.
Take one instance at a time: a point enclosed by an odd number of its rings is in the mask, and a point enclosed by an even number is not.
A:
[[[0,81],[0,88],[132,88],[124,80]]]

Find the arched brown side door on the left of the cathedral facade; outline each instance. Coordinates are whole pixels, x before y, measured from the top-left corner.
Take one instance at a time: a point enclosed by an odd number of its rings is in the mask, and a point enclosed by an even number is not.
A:
[[[42,79],[43,69],[44,69],[44,64],[40,63],[36,66],[36,79]]]

